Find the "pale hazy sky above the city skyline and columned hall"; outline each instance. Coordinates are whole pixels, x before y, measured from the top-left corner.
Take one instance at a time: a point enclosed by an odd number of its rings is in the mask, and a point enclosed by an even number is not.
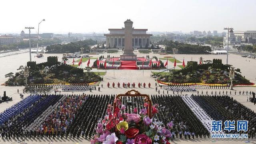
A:
[[[108,32],[131,19],[148,31],[256,30],[256,0],[1,0],[0,33]],[[25,31],[28,33],[28,30]]]

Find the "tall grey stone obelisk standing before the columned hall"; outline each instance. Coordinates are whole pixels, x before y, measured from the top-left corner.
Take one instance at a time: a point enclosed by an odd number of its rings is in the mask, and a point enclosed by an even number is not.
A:
[[[130,19],[124,22],[124,53],[120,55],[120,60],[137,60],[132,48],[132,24]]]

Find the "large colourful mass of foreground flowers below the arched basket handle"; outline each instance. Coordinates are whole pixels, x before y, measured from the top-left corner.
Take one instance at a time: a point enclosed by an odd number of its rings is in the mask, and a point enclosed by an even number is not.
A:
[[[152,106],[153,118],[149,118],[148,103],[144,103],[140,112],[134,108],[131,114],[124,113],[126,106],[121,102],[117,102],[115,110],[108,104],[108,114],[98,122],[91,144],[170,144],[174,124],[169,122],[164,127],[154,118],[157,107],[157,104]]]

